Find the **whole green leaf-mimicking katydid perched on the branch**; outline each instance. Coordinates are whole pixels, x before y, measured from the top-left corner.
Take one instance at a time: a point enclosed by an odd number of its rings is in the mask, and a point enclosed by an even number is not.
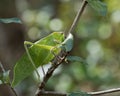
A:
[[[69,34],[65,40],[64,37],[63,33],[54,32],[35,43],[25,42],[24,44],[27,53],[25,53],[14,66],[12,87],[16,86],[24,78],[32,74],[34,70],[37,72],[39,66],[48,64],[55,57],[51,52],[51,49],[55,54],[58,54],[64,49],[66,52],[71,51],[73,46],[73,36]],[[55,40],[60,43],[56,43]],[[27,48],[27,45],[32,46]]]

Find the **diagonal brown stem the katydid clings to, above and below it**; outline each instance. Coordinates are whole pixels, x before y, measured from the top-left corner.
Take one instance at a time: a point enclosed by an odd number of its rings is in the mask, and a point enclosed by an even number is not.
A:
[[[87,5],[87,1],[86,0],[83,0],[82,2],[82,5],[80,7],[80,10],[78,11],[69,31],[68,31],[68,34],[71,33],[72,31],[74,31],[75,27],[77,26],[77,23],[85,9],[85,6]],[[68,55],[69,52],[64,52],[64,51],[61,51],[61,53],[56,56],[53,60],[53,64],[52,66],[48,69],[46,75],[44,76],[43,78],[43,81],[41,82],[41,84],[39,85],[39,89],[37,90],[36,92],[36,96],[43,96],[42,93],[44,93],[44,88],[45,88],[45,85],[47,83],[47,81],[49,80],[49,78],[52,76],[54,70],[62,63],[64,62],[66,56]],[[58,58],[59,57],[59,58]],[[58,60],[59,59],[59,60]],[[48,95],[47,95],[48,96]],[[50,94],[49,94],[50,96]],[[53,95],[52,95],[53,96]],[[56,95],[55,95],[56,96]],[[59,96],[59,95],[58,95]],[[60,95],[60,96],[65,96],[65,95]]]

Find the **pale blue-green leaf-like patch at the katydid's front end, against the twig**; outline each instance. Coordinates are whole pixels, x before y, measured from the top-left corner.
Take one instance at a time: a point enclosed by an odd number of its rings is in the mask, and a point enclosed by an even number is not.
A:
[[[69,33],[67,38],[62,42],[61,47],[63,49],[65,49],[66,52],[69,52],[72,50],[72,48],[73,48],[73,35],[71,33]]]

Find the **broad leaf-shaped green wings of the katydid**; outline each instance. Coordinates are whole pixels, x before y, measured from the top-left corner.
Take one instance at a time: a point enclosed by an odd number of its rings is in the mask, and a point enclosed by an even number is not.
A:
[[[54,58],[54,55],[51,52],[52,48],[55,48],[53,51],[56,54],[60,52],[60,48],[56,48],[56,46],[59,44],[56,43],[55,40],[63,42],[64,34],[60,32],[54,32],[45,38],[35,42],[31,47],[28,48],[36,68],[41,65],[48,64]],[[34,70],[35,69],[32,63],[25,53],[14,66],[14,78],[12,81],[12,87],[16,86],[24,78],[32,74]]]

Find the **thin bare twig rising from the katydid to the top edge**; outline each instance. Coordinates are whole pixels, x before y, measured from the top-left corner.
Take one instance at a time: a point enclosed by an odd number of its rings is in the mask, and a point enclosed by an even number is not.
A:
[[[83,13],[86,5],[87,5],[87,1],[86,1],[86,0],[83,0],[82,5],[81,5],[81,7],[80,7],[80,9],[79,9],[79,11],[78,11],[78,13],[77,13],[77,15],[76,15],[73,23],[72,23],[69,31],[68,31],[68,34],[69,34],[69,33],[72,33],[72,32],[75,30],[75,27],[77,26],[77,24],[78,24],[78,22],[79,22],[79,19],[80,19],[81,15],[82,15],[82,13]]]

